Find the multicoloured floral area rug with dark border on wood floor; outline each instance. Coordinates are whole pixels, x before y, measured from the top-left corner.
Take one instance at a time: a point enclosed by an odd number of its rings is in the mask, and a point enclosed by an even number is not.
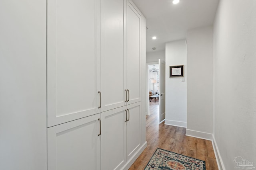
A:
[[[205,161],[158,148],[144,170],[205,170]]]

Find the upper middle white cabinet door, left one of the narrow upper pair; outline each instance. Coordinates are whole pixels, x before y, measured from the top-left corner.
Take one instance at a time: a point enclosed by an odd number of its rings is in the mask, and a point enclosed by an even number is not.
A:
[[[123,0],[101,4],[102,111],[124,106]]]

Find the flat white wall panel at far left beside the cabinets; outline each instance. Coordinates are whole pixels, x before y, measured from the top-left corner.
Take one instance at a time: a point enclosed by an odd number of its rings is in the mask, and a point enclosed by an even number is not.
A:
[[[46,170],[46,1],[0,1],[0,170]]]

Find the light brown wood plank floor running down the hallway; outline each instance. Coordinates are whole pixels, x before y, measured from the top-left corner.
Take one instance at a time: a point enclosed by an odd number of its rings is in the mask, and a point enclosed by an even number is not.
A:
[[[206,170],[218,170],[212,142],[188,137],[186,128],[158,124],[158,105],[150,105],[146,116],[146,141],[148,147],[142,152],[129,170],[144,170],[157,148],[204,160]]]

